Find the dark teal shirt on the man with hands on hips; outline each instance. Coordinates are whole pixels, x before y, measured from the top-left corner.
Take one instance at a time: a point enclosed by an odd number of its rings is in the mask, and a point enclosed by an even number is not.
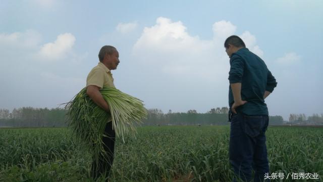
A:
[[[236,109],[237,113],[246,115],[268,115],[264,103],[265,90],[273,92],[277,82],[266,64],[247,48],[232,54],[230,59],[230,83],[241,83],[241,98],[246,104]],[[229,106],[234,103],[231,86],[229,86]],[[231,109],[230,109],[231,111]]]

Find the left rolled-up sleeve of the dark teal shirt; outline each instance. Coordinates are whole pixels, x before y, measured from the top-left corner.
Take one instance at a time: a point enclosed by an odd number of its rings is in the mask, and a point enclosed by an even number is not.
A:
[[[231,67],[229,71],[230,83],[241,83],[244,70],[244,61],[241,57],[233,55],[231,58]]]

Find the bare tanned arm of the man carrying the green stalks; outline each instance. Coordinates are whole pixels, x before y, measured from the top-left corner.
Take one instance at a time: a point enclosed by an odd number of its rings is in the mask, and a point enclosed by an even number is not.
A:
[[[102,108],[106,112],[110,112],[110,107],[103,99],[102,94],[100,93],[100,87],[96,85],[88,85],[86,89],[86,94],[93,100],[93,102]]]

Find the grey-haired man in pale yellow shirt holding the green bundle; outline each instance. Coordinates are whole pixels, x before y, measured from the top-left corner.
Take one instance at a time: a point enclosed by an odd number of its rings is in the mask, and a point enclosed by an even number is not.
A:
[[[103,86],[115,87],[111,70],[117,69],[117,66],[120,63],[119,53],[117,49],[111,45],[104,45],[100,49],[98,57],[99,63],[90,71],[87,76],[86,93],[95,104],[106,112],[110,112],[109,105],[103,99],[99,90]],[[113,163],[116,133],[115,130],[112,129],[111,118],[107,120],[104,133],[106,136],[102,138],[102,141],[104,143],[105,156],[101,156],[98,163],[93,160],[92,176],[94,179],[98,178],[100,175],[107,177]]]

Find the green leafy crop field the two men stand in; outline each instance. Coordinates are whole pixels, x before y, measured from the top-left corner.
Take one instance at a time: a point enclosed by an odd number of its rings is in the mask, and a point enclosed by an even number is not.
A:
[[[136,139],[117,139],[110,181],[230,181],[229,134],[230,126],[138,127]],[[322,127],[270,126],[266,136],[272,181],[323,181]],[[91,162],[67,128],[0,129],[0,181],[93,181]]]

